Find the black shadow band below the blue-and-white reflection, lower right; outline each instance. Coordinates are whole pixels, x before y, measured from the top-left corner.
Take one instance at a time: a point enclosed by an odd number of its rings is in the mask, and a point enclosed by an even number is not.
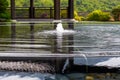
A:
[[[86,71],[87,67],[87,71]],[[69,71],[71,70],[71,71]],[[98,67],[98,66],[86,66],[86,65],[73,65],[71,69],[66,69],[65,73],[119,73],[119,68],[108,68],[108,67]]]

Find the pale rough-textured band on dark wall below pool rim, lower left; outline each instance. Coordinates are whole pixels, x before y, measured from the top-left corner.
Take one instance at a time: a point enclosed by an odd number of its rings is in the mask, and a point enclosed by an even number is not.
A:
[[[24,71],[24,72],[41,72],[54,73],[55,68],[48,63],[35,63],[24,61],[0,61],[0,70]]]

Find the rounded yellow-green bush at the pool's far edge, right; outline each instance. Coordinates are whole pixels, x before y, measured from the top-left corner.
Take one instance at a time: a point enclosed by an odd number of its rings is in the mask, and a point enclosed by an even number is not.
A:
[[[110,20],[110,13],[102,12],[101,10],[95,10],[88,14],[87,20],[89,21],[108,21]]]

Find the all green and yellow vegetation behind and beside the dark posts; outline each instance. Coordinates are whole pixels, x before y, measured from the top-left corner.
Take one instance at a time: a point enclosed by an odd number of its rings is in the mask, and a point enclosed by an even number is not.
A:
[[[35,7],[53,7],[54,0],[34,0]],[[16,7],[29,7],[30,0],[15,0]],[[4,7],[2,7],[4,5]],[[75,0],[74,3],[74,18],[78,21],[89,20],[89,21],[120,21],[120,1],[119,0]],[[6,12],[6,8],[10,7],[10,0],[0,0],[0,19],[1,18],[10,18],[9,13]],[[61,7],[68,7],[68,0],[61,0]],[[26,12],[27,11],[27,12]],[[46,14],[47,12],[47,14]],[[49,10],[39,11],[36,9],[36,16],[40,18],[50,18]],[[16,12],[18,16],[21,16],[21,13],[26,13],[28,15],[28,9],[24,9]],[[67,11],[61,11],[61,18],[67,17]],[[23,16],[23,15],[22,15]],[[29,16],[28,16],[29,17]]]

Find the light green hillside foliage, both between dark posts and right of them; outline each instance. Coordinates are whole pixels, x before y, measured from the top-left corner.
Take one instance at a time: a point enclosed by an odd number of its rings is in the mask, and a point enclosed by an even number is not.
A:
[[[2,0],[4,1],[4,0]],[[7,0],[10,6],[10,0]],[[16,0],[17,7],[29,7],[30,0]],[[75,10],[80,11],[94,11],[94,10],[109,10],[120,4],[120,0],[74,0]],[[34,0],[35,7],[53,7],[53,0]],[[61,7],[67,7],[68,0],[61,0]]]

